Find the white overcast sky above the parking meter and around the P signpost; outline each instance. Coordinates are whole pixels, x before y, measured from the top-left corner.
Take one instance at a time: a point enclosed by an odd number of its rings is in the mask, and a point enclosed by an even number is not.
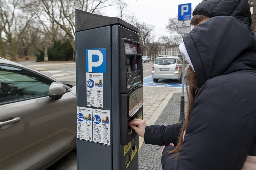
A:
[[[128,4],[125,13],[134,16],[147,24],[154,26],[155,33],[168,35],[166,25],[170,17],[178,15],[178,5],[192,3],[192,11],[202,0],[124,0]],[[116,7],[115,7],[116,8]],[[117,17],[118,10],[114,7],[104,9],[106,16]]]

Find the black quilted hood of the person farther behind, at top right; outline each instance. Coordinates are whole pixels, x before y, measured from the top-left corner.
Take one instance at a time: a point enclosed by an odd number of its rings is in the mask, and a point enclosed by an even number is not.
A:
[[[242,21],[251,30],[251,11],[248,0],[203,0],[193,11],[210,18],[216,16],[233,16]]]

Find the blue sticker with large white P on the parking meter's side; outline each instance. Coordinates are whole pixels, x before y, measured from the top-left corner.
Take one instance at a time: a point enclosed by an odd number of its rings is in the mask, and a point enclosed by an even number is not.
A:
[[[86,72],[106,73],[106,48],[86,49]]]

